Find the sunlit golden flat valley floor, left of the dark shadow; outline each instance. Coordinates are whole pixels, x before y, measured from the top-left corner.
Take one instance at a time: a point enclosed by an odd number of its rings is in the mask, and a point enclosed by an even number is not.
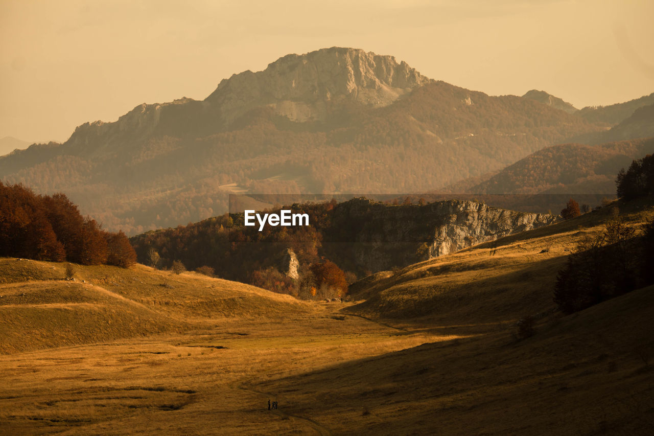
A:
[[[340,306],[315,304],[300,317],[216,319],[183,335],[0,356],[0,433],[330,434],[328,422],[296,410],[293,383],[262,383],[456,337],[339,319],[330,312]],[[315,394],[325,398],[329,391],[327,383]],[[268,400],[279,409],[267,410]],[[363,410],[353,405],[353,411]]]

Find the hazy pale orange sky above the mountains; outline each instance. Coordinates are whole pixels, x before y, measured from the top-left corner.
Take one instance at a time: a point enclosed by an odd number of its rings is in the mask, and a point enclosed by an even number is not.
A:
[[[653,17],[651,0],[0,0],[0,137],[64,141],[330,46],[491,95],[607,105],[654,92]]]

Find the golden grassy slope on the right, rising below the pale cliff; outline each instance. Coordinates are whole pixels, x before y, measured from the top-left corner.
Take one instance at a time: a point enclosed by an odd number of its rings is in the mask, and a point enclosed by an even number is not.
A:
[[[650,202],[616,202],[630,225],[641,228],[654,211]],[[552,291],[566,257],[584,238],[604,229],[613,217],[602,208],[555,225],[506,236],[394,274],[378,273],[354,283],[347,309],[373,318],[425,319],[441,323],[513,322],[555,310]]]

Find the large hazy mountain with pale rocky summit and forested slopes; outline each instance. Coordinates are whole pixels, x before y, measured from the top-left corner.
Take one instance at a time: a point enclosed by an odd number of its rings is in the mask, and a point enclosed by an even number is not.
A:
[[[106,228],[136,234],[224,213],[235,193],[426,191],[598,130],[392,56],[325,48],[233,75],[203,101],[82,124],[63,144],[0,158],[0,179],[63,191]]]

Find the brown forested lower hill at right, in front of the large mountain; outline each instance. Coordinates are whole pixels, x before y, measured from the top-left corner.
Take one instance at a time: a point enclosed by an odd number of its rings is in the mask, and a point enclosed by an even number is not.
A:
[[[654,153],[654,138],[546,147],[469,188],[475,194],[611,194],[615,176]]]

